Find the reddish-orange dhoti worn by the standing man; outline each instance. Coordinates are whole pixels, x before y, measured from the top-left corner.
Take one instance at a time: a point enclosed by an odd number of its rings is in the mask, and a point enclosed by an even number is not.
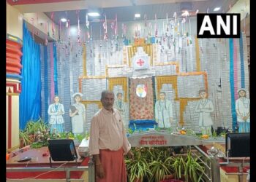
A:
[[[99,158],[105,172],[105,178],[97,178],[97,182],[127,182],[123,148],[118,151],[99,150]]]

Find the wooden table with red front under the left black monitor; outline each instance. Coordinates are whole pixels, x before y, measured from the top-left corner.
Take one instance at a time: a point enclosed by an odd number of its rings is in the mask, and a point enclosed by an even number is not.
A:
[[[78,154],[78,146],[76,146]],[[21,150],[22,151],[22,150]],[[61,152],[61,151],[60,151]],[[49,151],[48,147],[42,147],[39,149],[28,149],[23,152],[18,152],[18,155],[11,157],[7,160],[7,167],[50,167],[49,161]],[[48,154],[48,156],[43,157],[43,154]],[[31,157],[29,162],[18,162],[19,159],[23,157]],[[23,179],[23,178],[34,178],[37,175],[40,175],[37,179],[47,179],[48,181],[54,181],[53,179],[66,179],[66,173],[64,171],[54,171],[54,167],[86,167],[88,166],[89,157],[83,158],[78,154],[77,163],[74,161],[53,161],[52,166],[53,171],[50,173],[45,173],[42,171],[33,171],[33,172],[7,172],[7,181],[8,179]],[[50,168],[51,170],[51,168]],[[43,174],[45,173],[45,174]],[[43,174],[43,175],[42,175]],[[81,179],[84,178],[84,181],[88,181],[88,171],[70,171],[70,178],[72,179]],[[25,180],[26,181],[26,180]]]

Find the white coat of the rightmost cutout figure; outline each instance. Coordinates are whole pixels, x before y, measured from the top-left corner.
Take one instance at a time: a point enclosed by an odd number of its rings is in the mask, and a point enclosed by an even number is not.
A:
[[[242,116],[246,116],[247,114],[249,114],[250,112],[249,106],[250,106],[249,98],[241,97],[241,98],[238,98],[238,100],[236,100],[236,112],[239,113],[237,114],[238,122],[245,122]],[[250,116],[246,119],[246,122],[250,122]]]

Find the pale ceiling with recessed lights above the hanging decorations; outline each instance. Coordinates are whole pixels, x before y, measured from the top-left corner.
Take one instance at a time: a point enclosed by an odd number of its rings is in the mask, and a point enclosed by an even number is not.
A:
[[[222,7],[219,12],[227,12],[238,0],[7,0],[7,3],[17,8],[20,12],[44,12],[50,19],[53,17],[54,23],[59,25],[59,20],[65,17],[70,25],[86,22],[86,13],[90,9],[97,9],[101,17],[113,20],[117,17],[118,21],[135,20],[135,13],[140,13],[140,18],[136,20],[152,20],[173,17],[173,13],[181,14],[181,9],[189,9],[190,12],[213,12],[215,7]],[[161,4],[159,4],[161,3]],[[53,13],[54,12],[54,13]],[[53,16],[52,16],[53,15]]]

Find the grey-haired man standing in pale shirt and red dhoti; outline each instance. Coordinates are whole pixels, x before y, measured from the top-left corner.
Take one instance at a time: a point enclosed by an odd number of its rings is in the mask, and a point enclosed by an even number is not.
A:
[[[121,114],[113,108],[114,93],[102,92],[102,106],[91,119],[89,154],[93,155],[97,182],[127,182],[124,154],[133,158]]]

